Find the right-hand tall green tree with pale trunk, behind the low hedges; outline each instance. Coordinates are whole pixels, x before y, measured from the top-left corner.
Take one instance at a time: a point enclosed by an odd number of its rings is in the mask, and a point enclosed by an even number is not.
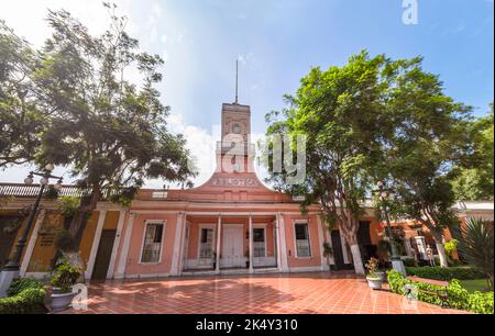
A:
[[[438,76],[424,71],[421,61],[404,61],[392,72],[382,170],[396,192],[398,212],[431,232],[440,264],[448,267],[442,234],[458,222],[452,180],[455,167],[473,154],[464,132],[471,108],[446,96]]]

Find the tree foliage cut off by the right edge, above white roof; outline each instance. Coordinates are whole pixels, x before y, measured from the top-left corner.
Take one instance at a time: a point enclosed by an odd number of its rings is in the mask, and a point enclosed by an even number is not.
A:
[[[474,142],[474,154],[465,165],[459,167],[460,176],[453,181],[457,199],[460,201],[493,201],[494,190],[494,114],[491,112],[470,124]]]

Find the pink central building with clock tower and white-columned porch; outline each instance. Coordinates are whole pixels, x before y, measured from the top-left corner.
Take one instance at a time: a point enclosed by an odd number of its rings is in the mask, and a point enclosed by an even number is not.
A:
[[[301,215],[254,172],[250,107],[221,113],[216,172],[195,189],[140,191],[118,228],[114,278],[328,269],[318,208]]]

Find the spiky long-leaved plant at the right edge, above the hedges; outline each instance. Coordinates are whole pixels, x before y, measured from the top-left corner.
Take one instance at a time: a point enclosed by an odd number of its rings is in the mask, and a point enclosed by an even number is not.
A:
[[[482,219],[469,219],[461,225],[459,253],[469,264],[476,266],[484,273],[493,288],[494,277],[494,235],[493,223]]]

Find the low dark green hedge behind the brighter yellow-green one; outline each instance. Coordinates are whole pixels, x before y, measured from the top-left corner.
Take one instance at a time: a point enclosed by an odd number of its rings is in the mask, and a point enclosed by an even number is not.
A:
[[[450,281],[484,279],[485,275],[475,267],[406,267],[408,276],[425,279]]]

